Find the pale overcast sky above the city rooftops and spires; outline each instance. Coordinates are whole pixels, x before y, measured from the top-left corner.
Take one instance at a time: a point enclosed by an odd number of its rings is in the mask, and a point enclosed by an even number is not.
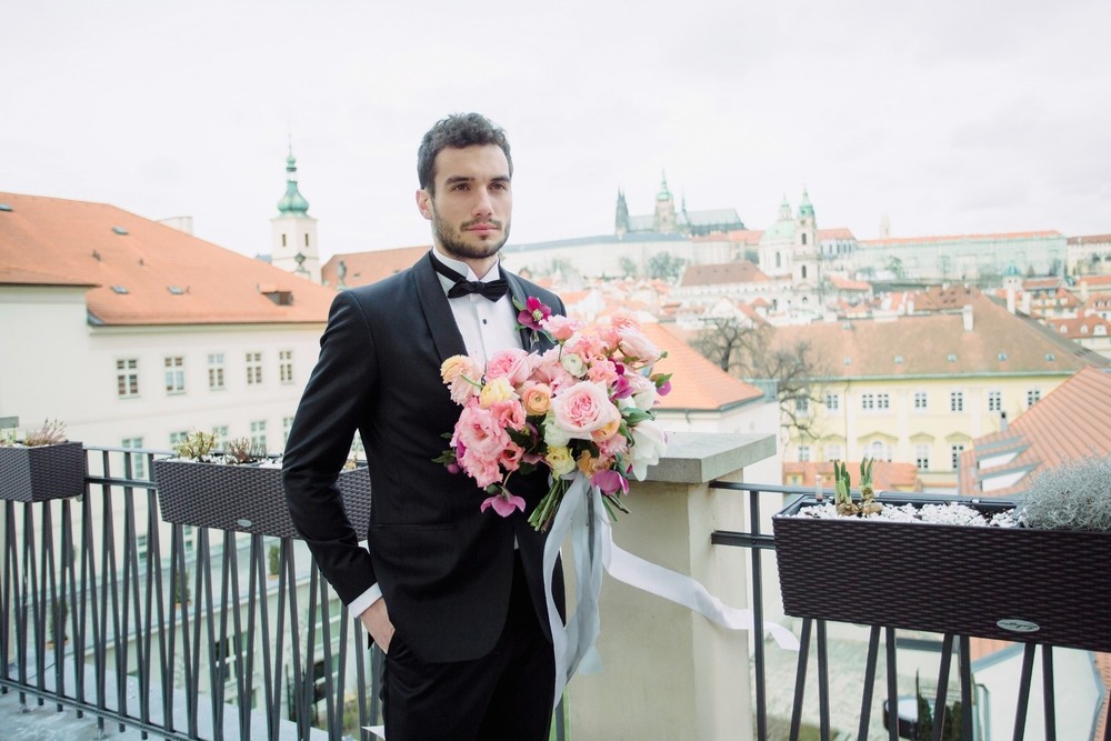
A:
[[[511,240],[612,233],[661,171],[764,229],[1111,232],[1111,2],[6,3],[0,191],[191,216],[256,254],[289,139],[321,252],[424,244],[416,150],[477,110]]]

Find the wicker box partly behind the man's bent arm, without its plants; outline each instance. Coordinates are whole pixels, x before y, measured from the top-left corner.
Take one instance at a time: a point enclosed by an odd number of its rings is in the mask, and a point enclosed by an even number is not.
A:
[[[154,483],[162,520],[277,538],[300,538],[281,485],[281,469],[156,460]],[[344,470],[339,478],[348,518],[360,538],[370,521],[370,474]]]

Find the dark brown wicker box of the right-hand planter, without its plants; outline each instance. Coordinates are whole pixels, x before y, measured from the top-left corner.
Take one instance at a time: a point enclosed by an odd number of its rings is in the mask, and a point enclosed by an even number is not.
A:
[[[814,503],[772,518],[787,614],[1111,651],[1109,532],[788,517]]]

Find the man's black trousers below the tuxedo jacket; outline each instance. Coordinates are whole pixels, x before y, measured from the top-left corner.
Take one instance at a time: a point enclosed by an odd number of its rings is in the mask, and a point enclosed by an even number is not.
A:
[[[524,581],[513,568],[509,615],[494,649],[481,659],[419,661],[394,633],[382,678],[389,741],[547,741],[554,658]]]

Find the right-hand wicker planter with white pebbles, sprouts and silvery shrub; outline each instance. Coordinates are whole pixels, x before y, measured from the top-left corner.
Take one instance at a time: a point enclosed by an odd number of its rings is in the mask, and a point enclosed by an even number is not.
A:
[[[1048,471],[1018,510],[992,497],[883,492],[882,510],[839,514],[800,498],[772,518],[784,612],[1111,651],[1111,590],[1099,583],[1111,573],[1109,469],[1091,458]],[[864,553],[867,568],[837,565]]]

